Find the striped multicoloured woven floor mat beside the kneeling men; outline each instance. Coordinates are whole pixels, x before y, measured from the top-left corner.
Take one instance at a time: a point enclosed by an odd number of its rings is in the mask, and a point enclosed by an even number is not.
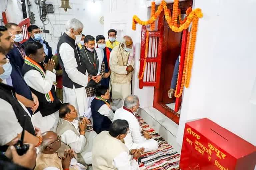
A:
[[[148,131],[158,142],[159,148],[154,152],[145,152],[139,159],[141,170],[180,170],[180,154],[155,132],[140,116],[136,116],[140,126]]]

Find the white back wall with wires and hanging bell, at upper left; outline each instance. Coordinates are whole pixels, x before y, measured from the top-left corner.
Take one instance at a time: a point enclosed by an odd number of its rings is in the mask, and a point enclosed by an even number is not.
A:
[[[35,24],[39,27],[43,27],[41,20],[39,19],[39,13],[37,10],[37,5],[34,0],[31,0],[32,8],[31,11],[34,12],[36,17]],[[47,3],[51,3],[54,6],[54,14],[48,14],[50,23],[45,21],[45,29],[49,30],[50,33],[45,33],[44,38],[50,43],[53,48],[53,53],[57,48],[58,39],[61,33],[65,31],[65,24],[71,18],[77,18],[84,24],[83,34],[90,34],[96,37],[99,34],[103,34],[103,25],[100,24],[100,17],[103,16],[103,1],[92,0],[70,0],[69,4],[72,9],[68,9],[64,12],[64,9],[58,8],[60,6],[60,0],[47,0]]]

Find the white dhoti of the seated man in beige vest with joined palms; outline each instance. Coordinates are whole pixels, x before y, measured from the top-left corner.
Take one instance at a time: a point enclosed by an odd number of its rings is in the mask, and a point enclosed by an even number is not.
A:
[[[87,165],[92,164],[92,142],[93,139],[97,136],[97,133],[95,131],[89,131],[85,133],[85,137],[87,139],[87,144],[83,150],[82,157],[84,158],[84,161]]]

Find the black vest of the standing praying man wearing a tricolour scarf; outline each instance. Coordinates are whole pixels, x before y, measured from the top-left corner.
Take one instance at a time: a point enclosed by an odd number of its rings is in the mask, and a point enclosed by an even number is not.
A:
[[[38,63],[42,68],[43,70],[45,71],[44,69],[44,66],[40,63]],[[30,71],[30,70],[36,70],[38,71],[36,68],[30,66],[30,65],[27,65],[26,63],[23,65],[22,67],[22,74],[23,76],[26,74],[26,72]],[[55,87],[54,85],[52,85],[52,89],[51,89],[51,92],[52,92],[52,96],[53,96],[53,102],[48,102],[45,98],[45,94],[43,93],[40,93],[36,90],[34,90],[33,88],[31,88],[31,91],[37,96],[38,98],[38,101],[39,101],[39,107],[37,109],[37,111],[40,111],[40,113],[42,114],[42,116],[48,116],[56,111],[58,111],[60,109],[60,106],[61,106],[61,102],[60,100],[57,98],[57,95],[56,95],[56,91],[55,91]],[[36,111],[36,112],[37,112]]]

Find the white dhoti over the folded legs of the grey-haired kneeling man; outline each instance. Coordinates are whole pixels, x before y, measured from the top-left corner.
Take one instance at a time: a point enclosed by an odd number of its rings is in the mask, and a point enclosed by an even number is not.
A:
[[[133,143],[132,147],[129,149],[140,149],[140,148],[145,148],[145,152],[154,151],[158,149],[158,143],[154,139],[147,140],[145,138],[144,142]]]

